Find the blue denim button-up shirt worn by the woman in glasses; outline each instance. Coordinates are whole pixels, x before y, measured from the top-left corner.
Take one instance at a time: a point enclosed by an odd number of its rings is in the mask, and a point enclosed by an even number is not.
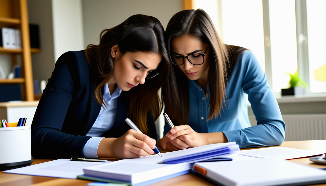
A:
[[[284,140],[285,123],[267,78],[254,54],[241,52],[225,88],[225,105],[221,115],[207,122],[208,97],[194,81],[188,80],[190,109],[188,125],[199,133],[223,132],[229,142],[240,148],[280,145]],[[251,126],[248,118],[247,95],[256,116],[257,125]],[[165,123],[164,135],[170,131]]]

